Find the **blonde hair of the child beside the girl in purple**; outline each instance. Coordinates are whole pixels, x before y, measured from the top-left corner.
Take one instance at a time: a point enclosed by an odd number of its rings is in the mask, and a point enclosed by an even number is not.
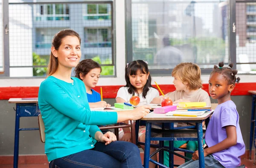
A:
[[[178,78],[183,84],[186,82],[189,90],[202,87],[201,69],[197,64],[180,63],[172,70],[172,76]]]

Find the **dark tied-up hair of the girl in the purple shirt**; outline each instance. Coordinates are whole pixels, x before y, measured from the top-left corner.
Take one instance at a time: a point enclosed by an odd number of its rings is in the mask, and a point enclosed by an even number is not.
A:
[[[219,66],[219,67],[218,67]],[[236,83],[239,83],[240,78],[236,78],[237,70],[232,70],[233,64],[229,64],[228,67],[224,67],[224,62],[220,62],[219,64],[214,65],[214,69],[212,70],[212,73],[219,73],[221,74],[228,82],[228,84],[235,85]]]

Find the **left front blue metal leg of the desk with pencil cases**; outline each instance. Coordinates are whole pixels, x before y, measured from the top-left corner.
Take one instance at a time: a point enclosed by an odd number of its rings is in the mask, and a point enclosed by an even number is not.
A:
[[[144,168],[148,168],[150,160],[150,139],[151,139],[151,123],[146,123],[146,137],[144,149]]]

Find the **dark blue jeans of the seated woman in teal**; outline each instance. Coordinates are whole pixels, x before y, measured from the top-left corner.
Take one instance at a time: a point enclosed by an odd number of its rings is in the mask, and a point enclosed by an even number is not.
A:
[[[50,168],[143,168],[139,148],[131,142],[97,142],[95,148],[52,160]]]

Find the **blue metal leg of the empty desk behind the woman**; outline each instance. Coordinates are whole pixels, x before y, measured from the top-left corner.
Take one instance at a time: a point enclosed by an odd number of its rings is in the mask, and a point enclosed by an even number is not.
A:
[[[20,106],[16,105],[13,168],[17,168],[18,167],[18,159],[19,159],[19,128],[20,128]]]

